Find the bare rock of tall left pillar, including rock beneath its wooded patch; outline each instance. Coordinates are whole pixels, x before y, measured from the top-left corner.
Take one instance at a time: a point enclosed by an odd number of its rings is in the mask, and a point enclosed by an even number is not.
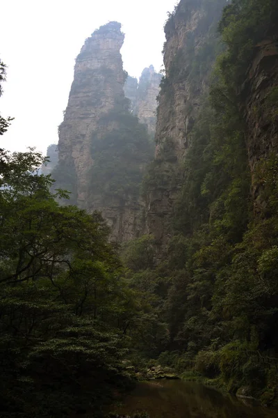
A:
[[[54,171],[58,187],[72,192],[69,203],[88,212],[101,212],[111,228],[111,240],[116,242],[138,237],[144,212],[143,201],[132,193],[104,196],[105,185],[99,192],[91,191],[94,185],[94,141],[101,141],[119,129],[120,122],[109,117],[111,114],[130,114],[132,110],[125,109],[126,72],[120,54],[123,42],[124,34],[118,22],[101,26],[85,40],[76,58],[74,81],[64,120],[59,127],[59,162]],[[130,86],[126,84],[126,94],[130,92],[132,96],[134,88],[137,90],[137,81],[130,81]],[[131,97],[132,100],[135,98]],[[138,119],[134,119],[138,123]],[[147,143],[149,146],[149,141]],[[143,171],[144,164],[140,161],[138,164]]]

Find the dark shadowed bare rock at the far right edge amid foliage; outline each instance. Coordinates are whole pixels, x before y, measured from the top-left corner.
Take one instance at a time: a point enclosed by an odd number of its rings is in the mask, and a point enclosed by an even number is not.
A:
[[[256,182],[256,166],[278,151],[278,32],[272,39],[256,45],[256,52],[245,84],[240,89],[242,111],[247,123],[247,151],[252,173],[255,210],[261,212],[265,202]]]

